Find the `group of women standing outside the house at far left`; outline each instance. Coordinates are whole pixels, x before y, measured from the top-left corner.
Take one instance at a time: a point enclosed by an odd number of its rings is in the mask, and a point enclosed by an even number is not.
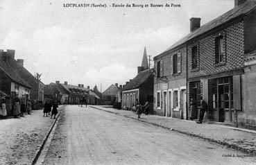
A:
[[[18,94],[15,95],[12,102],[12,114],[14,118],[24,117],[24,112],[31,114],[32,104],[31,100],[25,101],[25,98],[19,98]],[[6,110],[6,95],[4,94],[1,98],[1,107],[0,107],[0,117],[1,119],[7,118]]]

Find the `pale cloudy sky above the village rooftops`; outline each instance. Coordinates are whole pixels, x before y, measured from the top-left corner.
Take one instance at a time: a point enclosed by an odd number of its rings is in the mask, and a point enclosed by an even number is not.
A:
[[[65,8],[103,3],[107,8]],[[112,3],[180,4],[180,8],[111,8]],[[60,80],[102,92],[137,75],[144,47],[153,58],[234,7],[234,0],[0,0],[0,49],[15,49],[31,73],[47,85]]]

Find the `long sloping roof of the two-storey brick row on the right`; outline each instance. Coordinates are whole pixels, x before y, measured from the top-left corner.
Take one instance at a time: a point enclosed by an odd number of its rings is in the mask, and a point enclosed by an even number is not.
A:
[[[253,10],[255,8],[256,8],[256,1],[255,0],[247,0],[245,3],[242,3],[239,6],[232,8],[228,12],[225,12],[223,15],[217,17],[216,19],[213,19],[212,21],[208,22],[207,24],[204,24],[200,28],[196,29],[196,31],[189,33],[189,35],[186,35],[185,37],[183,37],[181,40],[179,40],[178,42],[173,44],[171,47],[169,47],[163,53],[166,53],[167,51],[170,51],[171,49],[174,49],[177,46],[185,44],[185,42],[193,39],[194,37],[198,37],[199,35],[202,35],[203,33],[206,33],[207,31],[210,31],[213,28],[221,26],[234,18],[237,18],[241,15],[245,15],[246,13],[250,12],[251,10]],[[162,55],[163,53],[161,53],[160,55]]]

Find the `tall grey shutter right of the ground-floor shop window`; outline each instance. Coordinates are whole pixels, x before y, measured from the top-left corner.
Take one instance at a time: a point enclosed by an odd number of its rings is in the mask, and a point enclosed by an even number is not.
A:
[[[240,75],[233,76],[234,110],[241,110]]]

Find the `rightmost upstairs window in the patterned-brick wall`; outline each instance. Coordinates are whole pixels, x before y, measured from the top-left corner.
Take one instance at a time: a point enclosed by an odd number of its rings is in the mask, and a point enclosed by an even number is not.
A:
[[[224,43],[223,43],[223,35],[216,37],[215,39],[215,64],[219,64],[223,62],[224,56]]]

